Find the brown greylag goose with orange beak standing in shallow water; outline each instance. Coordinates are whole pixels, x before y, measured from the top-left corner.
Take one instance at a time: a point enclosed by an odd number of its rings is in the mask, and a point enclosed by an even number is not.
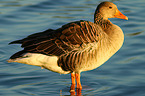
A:
[[[71,73],[71,88],[76,84],[82,89],[80,73],[102,65],[123,44],[123,31],[108,18],[128,20],[115,4],[102,2],[96,8],[94,23],[75,21],[9,43],[21,44],[24,49],[12,55],[8,62],[40,66],[60,74]]]

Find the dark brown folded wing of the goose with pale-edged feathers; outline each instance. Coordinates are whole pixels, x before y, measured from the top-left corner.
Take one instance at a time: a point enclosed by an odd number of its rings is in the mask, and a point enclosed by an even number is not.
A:
[[[60,56],[70,51],[79,50],[83,44],[98,42],[102,29],[89,21],[76,21],[63,25],[57,30],[48,29],[28,37],[13,41],[19,43],[24,50],[14,54],[11,58],[31,52],[45,55]]]

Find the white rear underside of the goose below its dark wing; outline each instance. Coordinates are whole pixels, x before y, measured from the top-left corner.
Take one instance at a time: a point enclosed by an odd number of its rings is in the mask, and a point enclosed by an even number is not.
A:
[[[61,67],[59,67],[57,60],[57,56],[47,56],[39,53],[25,53],[23,57],[9,59],[8,62],[18,62],[28,65],[40,66],[60,74],[70,73],[70,71],[64,71]]]

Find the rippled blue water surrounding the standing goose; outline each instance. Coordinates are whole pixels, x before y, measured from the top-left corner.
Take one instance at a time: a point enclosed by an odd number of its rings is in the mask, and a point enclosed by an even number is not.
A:
[[[93,22],[102,0],[1,0],[0,1],[0,95],[69,96],[70,75],[60,75],[6,60],[19,45],[10,41],[57,29],[76,20]],[[110,0],[129,20],[111,19],[125,33],[123,47],[101,67],[83,72],[83,96],[145,96],[145,0]]]

